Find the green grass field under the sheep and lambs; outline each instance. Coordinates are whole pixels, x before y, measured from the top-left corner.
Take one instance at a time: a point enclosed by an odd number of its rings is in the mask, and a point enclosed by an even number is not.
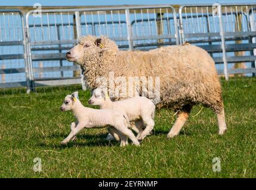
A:
[[[66,94],[75,87],[45,88],[36,94],[1,92],[0,178],[255,178],[256,78],[222,81],[228,131],[218,135],[217,118],[201,105],[193,108],[178,137],[166,134],[174,112],[156,112],[155,134],[140,147],[119,147],[105,140],[106,129],[84,129],[76,143],[60,145],[75,121],[60,112]],[[79,90],[87,105],[90,93]],[[42,172],[33,171],[33,159]],[[212,171],[220,157],[221,172]]]

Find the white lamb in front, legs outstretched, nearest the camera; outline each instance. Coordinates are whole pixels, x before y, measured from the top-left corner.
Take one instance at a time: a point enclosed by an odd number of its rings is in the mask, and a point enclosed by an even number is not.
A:
[[[135,145],[140,145],[133,132],[128,129],[129,119],[122,110],[112,109],[92,109],[84,107],[78,99],[78,92],[67,95],[61,111],[72,110],[76,117],[76,122],[70,125],[71,132],[61,144],[67,144],[70,140],[76,140],[76,134],[83,128],[102,128],[109,127],[109,132],[118,134],[121,139],[121,147],[128,144],[127,137]]]

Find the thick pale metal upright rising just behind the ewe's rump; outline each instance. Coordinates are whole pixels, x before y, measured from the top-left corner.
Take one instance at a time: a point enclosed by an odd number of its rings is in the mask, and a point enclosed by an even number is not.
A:
[[[223,58],[223,64],[224,64],[224,76],[226,80],[229,80],[229,74],[227,73],[227,53],[226,53],[226,45],[225,45],[225,34],[223,29],[223,23],[221,18],[221,5],[218,3],[213,4],[212,6],[215,6],[218,8],[218,18],[220,22],[220,37],[221,37],[221,49],[222,49],[222,58]]]

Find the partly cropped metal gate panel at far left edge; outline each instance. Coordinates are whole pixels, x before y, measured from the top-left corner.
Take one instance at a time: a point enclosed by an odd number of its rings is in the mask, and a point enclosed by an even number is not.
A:
[[[29,86],[23,14],[0,9],[0,88]]]

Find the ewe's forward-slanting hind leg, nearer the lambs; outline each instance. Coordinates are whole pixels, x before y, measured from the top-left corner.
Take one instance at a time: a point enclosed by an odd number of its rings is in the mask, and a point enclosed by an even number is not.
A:
[[[177,113],[177,119],[172,126],[171,131],[169,131],[169,133],[167,134],[168,138],[175,137],[180,133],[181,128],[186,123],[187,118],[189,118],[189,113],[191,109],[192,106],[187,105],[184,106],[183,109],[181,109],[180,112]]]

